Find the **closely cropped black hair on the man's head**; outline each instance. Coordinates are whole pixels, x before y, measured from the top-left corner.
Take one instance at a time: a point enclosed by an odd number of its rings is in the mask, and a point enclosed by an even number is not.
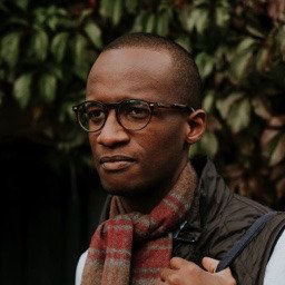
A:
[[[131,32],[120,36],[108,43],[102,52],[129,47],[166,50],[174,62],[174,90],[184,104],[195,109],[202,107],[202,79],[191,55],[177,42],[148,32]]]

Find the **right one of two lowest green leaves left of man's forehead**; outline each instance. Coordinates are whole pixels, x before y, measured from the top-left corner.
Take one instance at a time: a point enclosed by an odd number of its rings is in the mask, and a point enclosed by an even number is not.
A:
[[[39,79],[39,92],[45,102],[51,104],[56,98],[57,78],[51,73],[42,73]]]

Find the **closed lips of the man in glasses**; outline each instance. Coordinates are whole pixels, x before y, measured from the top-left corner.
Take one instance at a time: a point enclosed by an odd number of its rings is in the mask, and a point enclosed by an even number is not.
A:
[[[135,159],[129,156],[104,156],[99,159],[101,167],[107,171],[121,171],[130,167]]]

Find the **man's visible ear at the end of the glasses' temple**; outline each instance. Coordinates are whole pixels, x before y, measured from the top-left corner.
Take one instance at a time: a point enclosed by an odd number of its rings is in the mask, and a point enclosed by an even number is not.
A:
[[[193,145],[202,138],[206,130],[206,112],[202,109],[197,109],[188,115],[186,142]]]

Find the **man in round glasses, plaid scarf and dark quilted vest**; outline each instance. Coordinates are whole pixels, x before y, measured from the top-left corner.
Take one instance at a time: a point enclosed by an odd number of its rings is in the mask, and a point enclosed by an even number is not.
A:
[[[282,264],[271,257],[285,226],[279,213],[234,258],[232,272],[216,273],[216,259],[271,210],[229,191],[207,158],[189,161],[206,128],[200,108],[196,65],[175,42],[131,33],[97,58],[86,101],[73,110],[109,197],[79,261],[78,284],[285,284],[271,283]]]

